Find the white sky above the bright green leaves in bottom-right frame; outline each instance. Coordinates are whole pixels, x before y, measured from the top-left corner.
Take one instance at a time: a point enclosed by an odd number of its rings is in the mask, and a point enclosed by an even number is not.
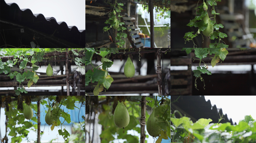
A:
[[[210,99],[211,105],[216,105],[217,109],[222,108],[223,115],[227,114],[232,118],[233,123],[239,123],[244,119],[244,115],[252,115],[256,119],[255,101],[256,96],[204,96],[205,100]]]

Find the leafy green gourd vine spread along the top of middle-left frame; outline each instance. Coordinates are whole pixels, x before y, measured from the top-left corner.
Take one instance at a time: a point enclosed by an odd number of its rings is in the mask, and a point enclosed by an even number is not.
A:
[[[47,66],[51,64],[51,59],[54,60],[56,64],[56,60],[61,60],[59,56],[56,56],[57,51],[62,53],[66,52],[65,48],[36,48],[39,47],[39,45],[36,45],[34,42],[30,42],[32,48],[1,48],[0,49],[0,73],[7,74],[10,79],[13,79],[16,77],[15,83],[18,83],[18,88],[15,90],[16,95],[21,95],[21,93],[28,93],[25,90],[25,86],[22,84],[22,82],[26,82],[28,88],[31,87],[31,85],[34,85],[37,83],[37,80],[39,80],[39,76],[37,75],[37,70],[40,66]],[[68,49],[73,52],[74,55],[82,56],[83,50],[80,50],[80,48],[77,49]],[[76,51],[74,51],[76,50]],[[49,55],[48,53],[52,53],[54,55]],[[68,51],[67,51],[68,52]],[[12,60],[8,58],[8,60],[2,60],[2,57],[9,57],[13,56]],[[44,57],[45,56],[45,57]],[[74,58],[74,57],[73,57]],[[82,65],[85,63],[85,57],[74,58],[74,61],[77,66],[82,67]],[[60,61],[58,61],[60,62]],[[11,71],[10,68],[13,66],[17,66],[19,68],[19,71],[26,69],[24,73],[19,73],[18,71]],[[32,68],[30,70],[27,69],[27,66],[31,66]],[[50,68],[50,67],[49,67]],[[84,67],[82,67],[84,68]],[[52,72],[52,69],[51,69]],[[26,81],[25,81],[26,80]],[[22,85],[22,86],[21,86]]]

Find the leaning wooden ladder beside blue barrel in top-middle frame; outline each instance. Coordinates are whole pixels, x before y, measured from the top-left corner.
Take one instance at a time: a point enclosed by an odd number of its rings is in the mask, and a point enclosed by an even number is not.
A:
[[[129,39],[132,45],[132,48],[143,48],[143,43],[141,43],[141,38],[137,34],[137,30],[135,30],[135,26],[134,26],[134,23],[131,22],[131,18],[122,17],[121,22],[125,23],[125,25],[122,25],[122,26],[127,28],[125,30],[125,33],[127,34],[127,38]]]

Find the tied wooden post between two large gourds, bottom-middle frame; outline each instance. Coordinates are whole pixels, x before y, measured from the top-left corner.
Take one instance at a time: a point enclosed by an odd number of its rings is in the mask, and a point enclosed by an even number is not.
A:
[[[140,118],[140,142],[145,143],[145,125],[146,125],[146,96],[141,98],[141,118]]]

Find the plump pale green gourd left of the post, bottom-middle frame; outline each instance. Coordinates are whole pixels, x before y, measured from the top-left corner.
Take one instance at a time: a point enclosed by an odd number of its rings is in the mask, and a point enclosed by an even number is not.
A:
[[[114,122],[117,127],[124,128],[129,124],[130,116],[123,102],[118,102],[114,112]]]

